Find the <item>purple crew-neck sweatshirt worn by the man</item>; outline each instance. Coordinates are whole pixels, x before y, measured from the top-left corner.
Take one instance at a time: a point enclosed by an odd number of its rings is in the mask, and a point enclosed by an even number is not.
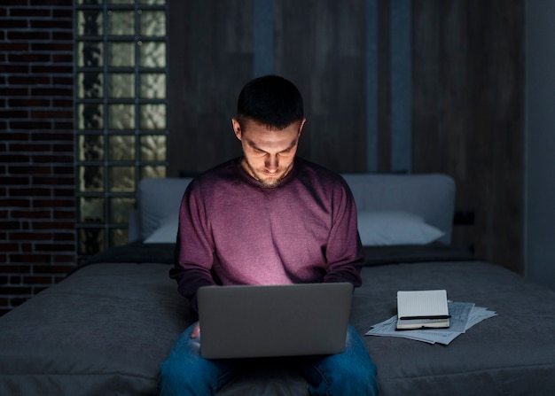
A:
[[[170,276],[196,310],[203,285],[360,286],[362,264],[355,201],[340,175],[297,158],[269,188],[233,159],[185,190]]]

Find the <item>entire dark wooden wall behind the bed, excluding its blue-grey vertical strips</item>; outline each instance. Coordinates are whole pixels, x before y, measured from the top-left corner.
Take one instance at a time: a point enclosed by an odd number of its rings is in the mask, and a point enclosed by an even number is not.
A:
[[[256,41],[261,2],[171,4],[169,175],[197,173],[239,153],[231,117],[261,50],[270,71],[292,79],[305,97],[301,156],[337,172],[363,172],[376,155],[379,172],[395,170],[390,57],[398,2],[266,3],[270,50]],[[369,4],[377,4],[373,14]],[[453,176],[457,210],[474,216],[473,225],[456,227],[454,242],[521,273],[524,1],[410,4],[410,171]],[[369,121],[370,22],[378,35],[378,59],[371,59],[378,65],[378,120]],[[376,153],[367,150],[368,122],[378,124]]]

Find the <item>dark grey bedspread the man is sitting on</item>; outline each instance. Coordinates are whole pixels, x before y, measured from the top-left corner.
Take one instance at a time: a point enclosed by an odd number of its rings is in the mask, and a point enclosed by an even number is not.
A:
[[[361,334],[395,314],[401,289],[444,288],[449,299],[498,315],[449,346],[364,336],[378,366],[380,394],[551,394],[555,291],[481,261],[421,259],[379,260],[384,265],[363,268],[351,316]],[[168,268],[159,262],[93,263],[5,314],[0,394],[156,394],[158,364],[195,320]],[[256,364],[218,394],[308,394],[302,377],[286,366]]]

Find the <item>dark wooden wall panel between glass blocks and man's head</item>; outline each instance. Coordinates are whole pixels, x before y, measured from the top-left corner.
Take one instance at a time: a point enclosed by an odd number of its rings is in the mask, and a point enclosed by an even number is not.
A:
[[[252,2],[170,4],[168,175],[197,174],[240,155],[231,117],[253,74],[252,26]]]

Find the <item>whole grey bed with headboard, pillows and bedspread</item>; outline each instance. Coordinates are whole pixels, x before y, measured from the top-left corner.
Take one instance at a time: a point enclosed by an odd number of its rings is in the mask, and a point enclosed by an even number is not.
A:
[[[344,177],[356,199],[366,257],[351,309],[361,335],[395,314],[398,290],[446,289],[449,299],[497,313],[448,346],[363,336],[380,394],[552,394],[555,291],[450,245],[453,180]],[[0,394],[157,394],[160,361],[195,320],[168,277],[188,182],[143,180],[129,245],[99,253],[0,318]],[[217,394],[307,395],[308,388],[286,365],[266,361]]]

